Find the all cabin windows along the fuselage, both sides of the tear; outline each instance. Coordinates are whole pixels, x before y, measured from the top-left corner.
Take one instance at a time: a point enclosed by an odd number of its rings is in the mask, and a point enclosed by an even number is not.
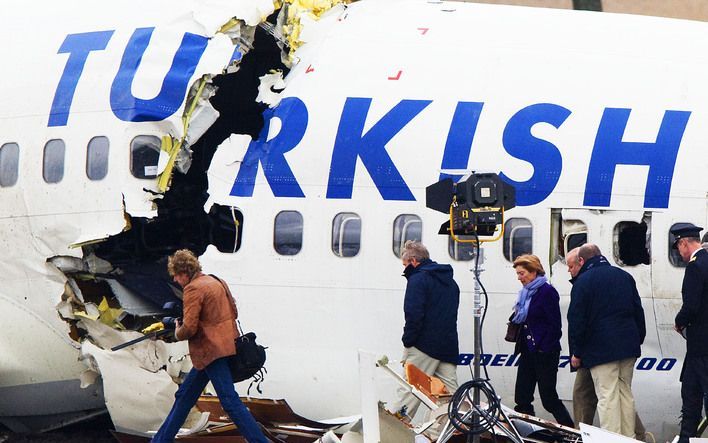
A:
[[[102,180],[108,174],[108,153],[110,142],[107,137],[96,136],[86,145],[86,176],[89,180]],[[130,172],[138,179],[157,177],[157,163],[160,156],[161,140],[153,135],[138,135],[130,143]],[[64,177],[66,144],[62,139],[49,140],[44,145],[42,177],[47,183],[59,183]],[[0,187],[14,186],[18,181],[20,146],[5,143],[0,146]],[[393,224],[393,253],[400,258],[403,244],[407,240],[420,240],[422,221],[416,215],[401,215]],[[281,255],[295,255],[302,248],[302,215],[296,211],[283,211],[276,217],[274,248]],[[622,222],[615,230],[619,240],[615,243],[614,258],[621,265],[634,266],[650,263],[650,251],[646,244],[646,223]],[[667,233],[671,243],[673,237]],[[353,257],[359,253],[361,219],[355,213],[338,214],[332,223],[332,251],[338,257]],[[506,221],[503,238],[504,258],[509,262],[521,254],[533,253],[533,228],[525,218]],[[558,242],[560,256],[565,251],[587,241],[587,230],[563,236]],[[448,240],[450,258],[458,261],[472,260],[472,243],[458,243]],[[669,262],[673,266],[685,266],[678,253],[669,248]]]

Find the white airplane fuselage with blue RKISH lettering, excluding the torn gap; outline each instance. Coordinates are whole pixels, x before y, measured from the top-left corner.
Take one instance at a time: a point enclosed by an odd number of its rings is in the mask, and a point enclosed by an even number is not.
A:
[[[50,5],[55,8],[43,7]],[[52,17],[51,26],[36,26],[41,38],[10,28],[13,43],[0,49],[0,57],[12,61],[0,87],[0,146],[20,147],[18,180],[0,187],[2,416],[37,414],[23,406],[38,403],[26,392],[58,382],[78,385],[85,369],[80,344],[55,308],[65,278],[46,260],[80,257],[70,245],[118,234],[124,210],[157,216],[143,191],[157,190],[156,180],[131,175],[129,145],[141,134],[180,138],[184,104],[160,121],[117,117],[109,97],[128,41],[136,29],[155,27],[132,85],[136,97],[149,98],[158,93],[184,32],[211,35],[215,29],[204,31],[207,25],[241,13],[209,9],[203,19],[184,15],[198,8],[191,2],[147,8],[135,2],[130,6],[140,8],[140,17],[124,4],[93,15],[95,6],[81,5],[85,17],[60,26]],[[15,8],[10,21],[34,22]],[[238,251],[209,247],[200,259],[231,286],[243,327],[269,347],[263,396],[285,398],[312,417],[361,409],[357,351],[396,359],[402,350],[406,282],[393,226],[403,214],[420,217],[432,259],[452,264],[462,290],[460,352],[473,352],[472,262],[448,254],[448,238],[437,234],[446,217],[426,208],[425,187],[443,170],[487,170],[516,183],[517,207],[505,217],[531,226],[530,252],[560,292],[564,316],[570,283],[562,238],[575,232],[571,221],[585,224],[587,240],[613,264],[622,244],[618,224],[646,222],[650,264],[623,266],[637,281],[647,323],[635,401],[649,430],[674,434],[685,346],[672,326],[683,273],[669,261],[668,231],[677,222],[708,221],[707,25],[454,2],[362,1],[331,12],[305,24],[305,43],[280,103],[267,111],[274,113],[266,119],[268,137],[222,144],[206,171],[206,210],[212,203],[238,208],[243,230]],[[57,53],[62,42],[70,34],[105,30],[115,32],[105,49],[86,58],[68,118],[48,125],[69,59]],[[209,40],[189,84],[219,74],[215,66],[225,66],[232,50],[228,41]],[[110,140],[109,167],[104,179],[92,181],[85,152],[95,136]],[[43,146],[51,139],[66,143],[58,183],[43,180]],[[257,162],[253,172],[243,169],[249,161]],[[281,211],[302,215],[296,255],[273,247]],[[353,257],[333,252],[333,220],[340,213],[361,220]],[[483,248],[487,366],[511,404],[516,371],[503,335],[520,285],[503,242]],[[564,319],[562,354],[566,332]],[[467,379],[469,370],[460,366],[458,375]],[[573,379],[567,366],[559,370],[564,401],[571,399]],[[380,391],[382,398],[393,392],[383,375]],[[41,403],[46,414],[71,409]]]

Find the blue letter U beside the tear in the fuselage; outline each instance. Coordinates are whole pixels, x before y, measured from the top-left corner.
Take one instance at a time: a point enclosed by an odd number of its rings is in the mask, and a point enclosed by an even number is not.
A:
[[[150,100],[136,98],[131,92],[135,73],[150,43],[155,28],[138,28],[123,53],[120,68],[111,86],[111,109],[119,119],[129,122],[164,120],[182,104],[189,79],[206,49],[208,39],[201,35],[184,33],[182,43],[172,59],[172,66],[162,81],[162,88]]]

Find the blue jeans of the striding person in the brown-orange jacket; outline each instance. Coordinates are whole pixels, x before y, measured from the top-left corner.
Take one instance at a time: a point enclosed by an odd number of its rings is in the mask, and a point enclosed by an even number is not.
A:
[[[175,403],[172,405],[172,410],[151,441],[154,443],[174,441],[177,431],[184,423],[192,406],[199,400],[199,396],[209,380],[214,385],[216,395],[219,397],[224,411],[229,414],[229,417],[238,426],[239,432],[246,440],[249,443],[268,443],[256,420],[241,402],[234,388],[226,357],[214,360],[202,370],[192,368],[189,371],[184,382],[175,393]]]

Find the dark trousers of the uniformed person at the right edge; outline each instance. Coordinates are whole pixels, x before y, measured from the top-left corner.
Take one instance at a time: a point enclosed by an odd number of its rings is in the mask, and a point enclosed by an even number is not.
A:
[[[696,436],[703,401],[708,394],[708,356],[686,356],[681,371],[681,432],[679,443]]]

